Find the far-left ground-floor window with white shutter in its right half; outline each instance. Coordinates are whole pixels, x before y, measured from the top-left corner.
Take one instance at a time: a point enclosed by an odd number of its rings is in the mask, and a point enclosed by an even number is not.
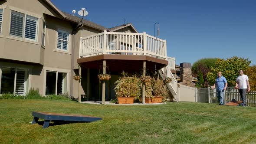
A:
[[[29,71],[27,69],[4,67],[1,77],[1,94],[12,93],[25,95],[27,92],[29,77]]]

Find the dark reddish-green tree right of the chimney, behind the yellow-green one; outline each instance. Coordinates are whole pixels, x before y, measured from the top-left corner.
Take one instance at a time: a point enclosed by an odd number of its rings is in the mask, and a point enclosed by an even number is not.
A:
[[[201,71],[203,74],[204,87],[209,85],[208,80],[206,79],[207,73],[210,72],[210,68],[214,67],[217,58],[205,58],[199,59],[194,62],[192,66],[192,75],[198,79],[198,74]]]

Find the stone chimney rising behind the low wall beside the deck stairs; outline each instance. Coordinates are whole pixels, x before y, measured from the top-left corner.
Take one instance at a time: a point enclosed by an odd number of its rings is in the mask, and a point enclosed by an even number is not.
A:
[[[192,71],[191,71],[191,63],[189,62],[183,62],[180,64],[180,78],[181,78],[181,84],[187,85],[190,87],[195,87],[195,83],[192,82]]]

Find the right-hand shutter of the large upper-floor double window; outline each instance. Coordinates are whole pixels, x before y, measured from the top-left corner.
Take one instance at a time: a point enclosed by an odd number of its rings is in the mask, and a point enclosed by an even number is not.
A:
[[[26,16],[25,38],[36,40],[37,18]]]

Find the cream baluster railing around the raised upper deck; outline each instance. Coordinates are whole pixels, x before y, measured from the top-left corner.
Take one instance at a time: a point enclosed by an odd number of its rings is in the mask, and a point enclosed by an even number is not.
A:
[[[145,55],[167,59],[166,40],[150,36],[145,32],[107,31],[80,38],[79,58],[101,54]]]

